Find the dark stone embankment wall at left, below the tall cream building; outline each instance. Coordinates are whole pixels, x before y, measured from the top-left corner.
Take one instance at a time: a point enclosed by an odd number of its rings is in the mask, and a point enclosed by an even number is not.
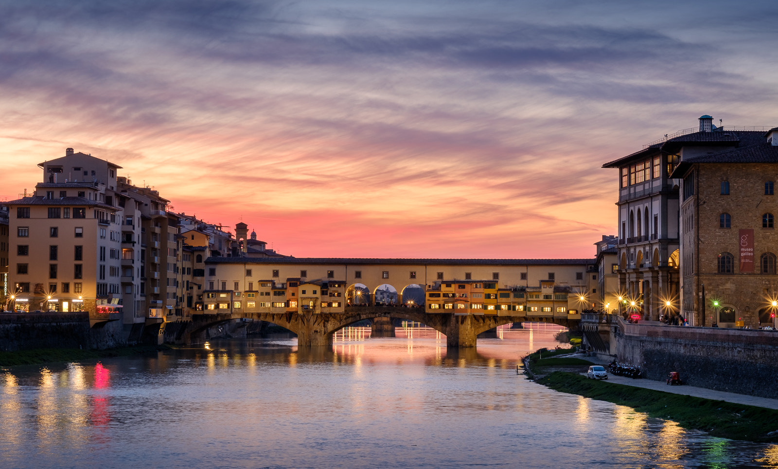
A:
[[[121,321],[89,327],[86,312],[0,313],[0,351],[105,349],[127,345],[127,336]]]

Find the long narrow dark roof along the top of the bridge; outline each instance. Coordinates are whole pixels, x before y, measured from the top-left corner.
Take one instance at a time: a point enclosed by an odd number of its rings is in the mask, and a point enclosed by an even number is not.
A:
[[[209,257],[206,263],[237,263],[237,264],[349,264],[370,265],[383,264],[386,266],[415,266],[423,264],[433,265],[474,265],[474,266],[525,266],[525,265],[589,265],[594,264],[591,259],[398,259],[398,258],[363,258],[363,257]],[[499,280],[496,280],[499,281]]]

